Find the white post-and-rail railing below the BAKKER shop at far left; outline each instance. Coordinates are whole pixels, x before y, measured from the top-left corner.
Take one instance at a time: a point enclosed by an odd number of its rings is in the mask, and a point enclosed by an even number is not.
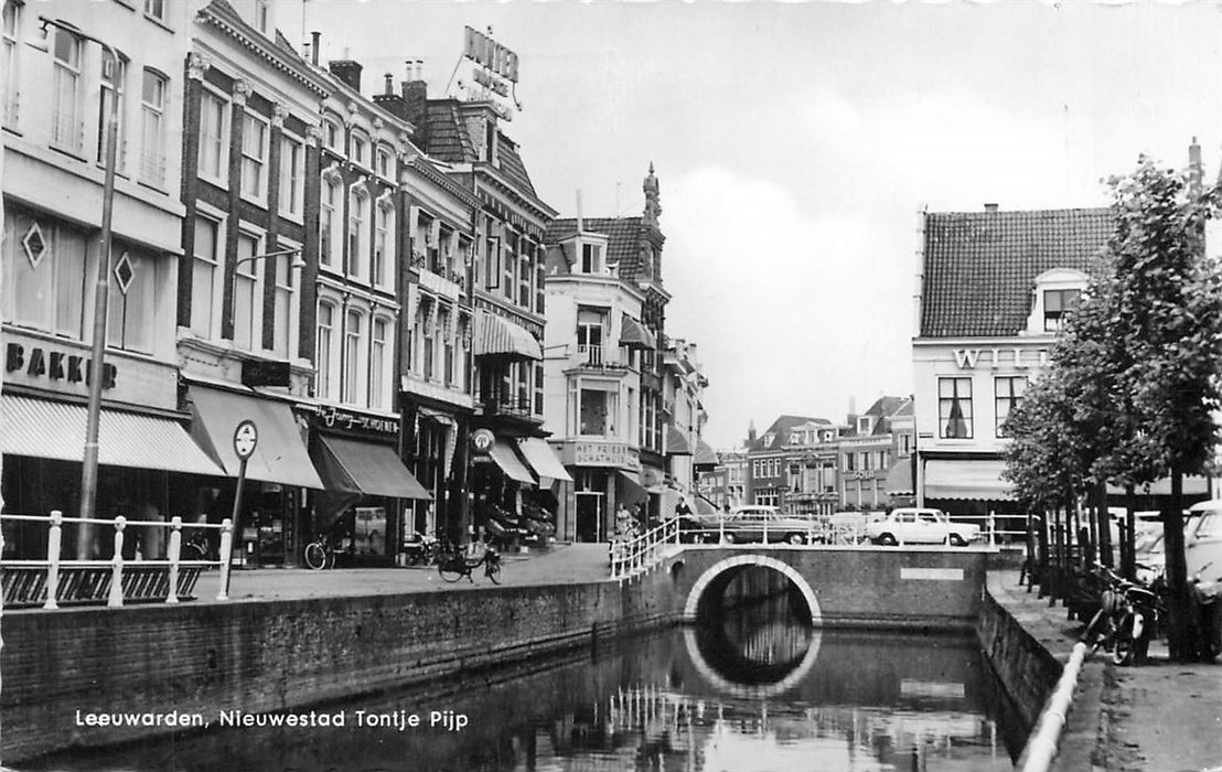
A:
[[[106,601],[122,606],[123,601],[161,600],[177,603],[180,597],[192,597],[196,580],[205,568],[219,568],[216,600],[229,600],[230,558],[233,548],[233,523],[187,523],[174,517],[166,520],[128,520],[120,515],[101,518],[66,518],[59,511],[50,515],[0,514],[0,520],[45,523],[45,559],[0,559],[5,606],[29,606],[43,601],[43,608],[59,608],[60,601]],[[81,523],[109,525],[114,529],[114,553],[109,559],[65,559],[60,556],[64,524]],[[128,526],[165,528],[170,530],[165,559],[128,559],[123,557],[123,531]],[[204,534],[220,531],[220,550],[215,559],[182,559],[182,529],[199,529]]]

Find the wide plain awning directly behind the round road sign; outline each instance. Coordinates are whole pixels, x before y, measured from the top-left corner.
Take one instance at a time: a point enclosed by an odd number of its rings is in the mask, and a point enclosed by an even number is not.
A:
[[[248,479],[324,487],[306,452],[293,413],[284,402],[204,386],[191,387],[191,401],[196,406],[191,434],[229,476],[236,478],[241,465],[233,452],[233,430],[240,421],[251,419],[258,429],[259,442],[246,465]]]

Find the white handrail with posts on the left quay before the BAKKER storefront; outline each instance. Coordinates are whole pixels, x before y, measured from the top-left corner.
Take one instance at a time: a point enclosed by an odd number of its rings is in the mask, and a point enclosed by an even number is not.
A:
[[[46,601],[43,603],[43,608],[51,611],[59,608],[59,596],[61,583],[60,575],[65,570],[73,569],[104,569],[109,567],[111,569],[110,581],[109,581],[109,594],[106,596],[108,606],[122,606],[123,605],[123,577],[125,568],[132,566],[132,569],[127,572],[127,575],[136,573],[137,568],[141,567],[153,567],[153,568],[166,568],[167,574],[167,594],[166,603],[178,602],[178,578],[180,570],[182,568],[193,568],[198,573],[203,568],[210,568],[213,566],[220,569],[219,572],[219,588],[216,592],[216,600],[225,601],[229,600],[229,573],[230,573],[230,561],[232,559],[233,551],[233,523],[226,518],[220,524],[218,523],[183,523],[182,518],[175,515],[170,520],[128,520],[123,515],[119,515],[114,519],[105,518],[73,518],[64,517],[64,513],[59,509],[53,509],[49,515],[39,514],[0,514],[0,520],[16,520],[16,522],[34,522],[34,523],[46,523],[48,535],[46,535],[46,559],[2,559],[0,558],[0,567],[9,568],[45,568],[45,589],[46,589]],[[60,556],[64,544],[64,524],[65,523],[100,523],[105,525],[111,525],[115,529],[114,537],[114,553],[110,558],[100,559],[64,559]],[[167,528],[170,529],[169,547],[166,550],[166,557],[164,559],[152,559],[145,561],[143,558],[128,561],[123,557],[123,530],[130,525],[137,525],[142,528]],[[182,529],[194,528],[202,530],[220,530],[221,541],[220,550],[218,551],[218,559],[215,561],[183,561],[182,559]],[[137,581],[137,579],[133,579]],[[191,584],[194,579],[189,579]],[[100,600],[100,599],[98,599]]]

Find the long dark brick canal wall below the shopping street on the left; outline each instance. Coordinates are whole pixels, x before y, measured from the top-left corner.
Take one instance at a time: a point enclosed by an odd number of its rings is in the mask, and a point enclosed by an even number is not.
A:
[[[670,578],[4,617],[0,759],[164,734],[77,711],[286,711],[673,622]]]

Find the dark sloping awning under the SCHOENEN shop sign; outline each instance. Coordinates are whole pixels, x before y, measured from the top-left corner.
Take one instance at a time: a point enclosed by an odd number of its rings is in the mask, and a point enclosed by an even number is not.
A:
[[[319,437],[319,476],[327,490],[392,498],[433,498],[393,448],[342,437]]]

